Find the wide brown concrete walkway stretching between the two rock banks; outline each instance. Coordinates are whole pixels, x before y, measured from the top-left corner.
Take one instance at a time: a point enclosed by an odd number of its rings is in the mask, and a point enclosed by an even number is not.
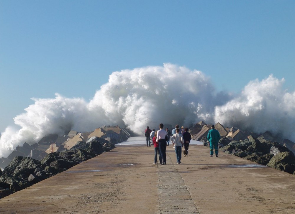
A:
[[[0,213],[295,213],[295,175],[190,145],[176,164],[153,147],[117,145],[0,200]]]

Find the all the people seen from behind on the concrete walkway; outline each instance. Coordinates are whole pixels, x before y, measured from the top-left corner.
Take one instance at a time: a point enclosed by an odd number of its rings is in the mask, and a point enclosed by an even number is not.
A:
[[[157,164],[157,159],[159,156],[160,164],[166,165],[166,146],[169,146],[170,140],[175,148],[177,164],[180,164],[182,156],[181,150],[183,146],[183,156],[186,157],[189,155],[191,134],[188,132],[188,128],[184,128],[182,126],[181,129],[179,129],[179,125],[176,125],[175,129],[172,129],[172,136],[168,128],[165,130],[163,128],[164,124],[161,123],[159,125],[158,131],[155,131],[155,129],[150,130],[149,126],[147,126],[147,129],[145,129],[147,146],[151,146],[152,139],[152,144],[155,148],[155,158],[153,164]],[[214,125],[211,126],[211,130],[208,132],[207,139],[210,143],[210,156],[213,157],[215,150],[215,156],[218,157],[218,141],[220,139],[220,134],[219,131],[215,129]]]

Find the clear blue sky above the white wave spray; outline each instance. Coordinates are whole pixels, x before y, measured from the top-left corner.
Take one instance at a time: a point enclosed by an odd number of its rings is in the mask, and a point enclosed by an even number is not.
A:
[[[170,62],[239,93],[294,91],[295,1],[0,0],[0,132],[30,98],[91,99],[113,71]]]

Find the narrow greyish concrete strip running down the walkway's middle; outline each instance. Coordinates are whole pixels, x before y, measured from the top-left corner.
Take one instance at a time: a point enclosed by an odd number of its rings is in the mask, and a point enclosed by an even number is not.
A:
[[[199,213],[168,153],[166,159],[168,164],[158,165],[159,213]]]

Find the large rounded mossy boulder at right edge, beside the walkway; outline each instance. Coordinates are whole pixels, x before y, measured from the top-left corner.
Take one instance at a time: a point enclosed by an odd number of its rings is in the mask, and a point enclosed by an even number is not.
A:
[[[295,171],[295,156],[292,152],[280,152],[274,155],[267,166],[293,174]]]

